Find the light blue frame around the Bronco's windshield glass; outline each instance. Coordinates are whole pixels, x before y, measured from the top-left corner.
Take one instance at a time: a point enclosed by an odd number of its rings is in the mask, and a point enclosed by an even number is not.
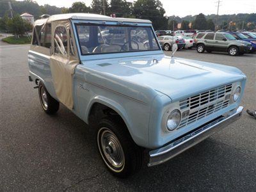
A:
[[[85,25],[85,26],[90,26],[90,25],[99,25],[99,26],[125,26],[125,27],[135,27],[135,28],[143,28],[143,27],[147,27],[150,28],[150,31],[152,31],[152,39],[155,38],[156,40],[156,44],[158,49],[152,49],[152,50],[136,50],[136,51],[124,51],[124,52],[100,52],[100,53],[88,53],[88,54],[83,54],[81,52],[81,45],[80,45],[80,41],[79,41],[79,33],[77,31],[77,25]],[[76,34],[76,44],[77,44],[77,48],[78,48],[78,52],[79,52],[79,56],[80,58],[84,58],[86,57],[86,60],[88,59],[89,56],[93,57],[96,56],[98,59],[100,58],[109,58],[108,55],[111,55],[111,57],[115,57],[116,54],[119,54],[119,57],[123,57],[126,56],[126,54],[132,54],[132,56],[136,56],[138,53],[138,55],[141,55],[141,52],[143,52],[144,55],[147,54],[152,54],[152,52],[156,52],[156,54],[159,54],[159,52],[163,53],[161,46],[157,40],[157,36],[156,33],[154,32],[154,29],[152,28],[152,24],[150,23],[143,23],[143,22],[138,22],[138,23],[134,23],[134,22],[116,22],[116,21],[98,21],[98,20],[72,20],[72,26],[74,29],[74,33]],[[148,52],[148,53],[147,53]],[[114,56],[115,55],[115,56]]]

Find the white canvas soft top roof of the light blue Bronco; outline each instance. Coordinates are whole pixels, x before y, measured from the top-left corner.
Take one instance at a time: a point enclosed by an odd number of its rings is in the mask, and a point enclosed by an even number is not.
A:
[[[78,20],[104,20],[104,21],[116,21],[116,22],[140,22],[140,23],[152,23],[150,20],[145,19],[132,19],[132,18],[121,18],[121,17],[108,17],[106,15],[97,15],[91,13],[67,13],[52,15],[47,19],[38,19],[35,21],[36,25],[42,25],[45,22],[52,22],[54,20],[66,20],[66,19],[78,19]]]

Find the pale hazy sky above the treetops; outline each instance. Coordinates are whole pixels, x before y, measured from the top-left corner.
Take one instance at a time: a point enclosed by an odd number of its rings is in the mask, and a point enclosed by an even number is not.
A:
[[[79,0],[36,0],[40,5],[51,4],[58,7],[70,7],[72,3]],[[80,0],[89,6],[91,0]],[[127,0],[133,2],[132,0]],[[176,15],[198,15],[204,13],[211,15],[217,13],[218,0],[160,0],[167,16]],[[219,15],[234,13],[256,13],[256,0],[220,0]]]

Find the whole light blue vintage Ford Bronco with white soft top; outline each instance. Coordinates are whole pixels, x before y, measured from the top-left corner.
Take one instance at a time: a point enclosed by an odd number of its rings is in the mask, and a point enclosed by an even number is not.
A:
[[[29,81],[44,111],[60,103],[97,130],[117,177],[168,161],[241,116],[246,76],[165,56],[150,20],[70,13],[36,20]]]

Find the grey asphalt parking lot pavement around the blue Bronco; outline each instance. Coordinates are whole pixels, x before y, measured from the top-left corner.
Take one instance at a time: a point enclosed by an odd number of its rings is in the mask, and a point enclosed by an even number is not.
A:
[[[46,115],[28,81],[28,45],[1,46],[0,191],[255,191],[256,120],[242,118],[167,163],[129,179],[106,171],[92,129],[61,106]],[[170,52],[166,52],[170,55]],[[242,105],[256,109],[256,54],[177,51],[177,57],[240,68]]]

